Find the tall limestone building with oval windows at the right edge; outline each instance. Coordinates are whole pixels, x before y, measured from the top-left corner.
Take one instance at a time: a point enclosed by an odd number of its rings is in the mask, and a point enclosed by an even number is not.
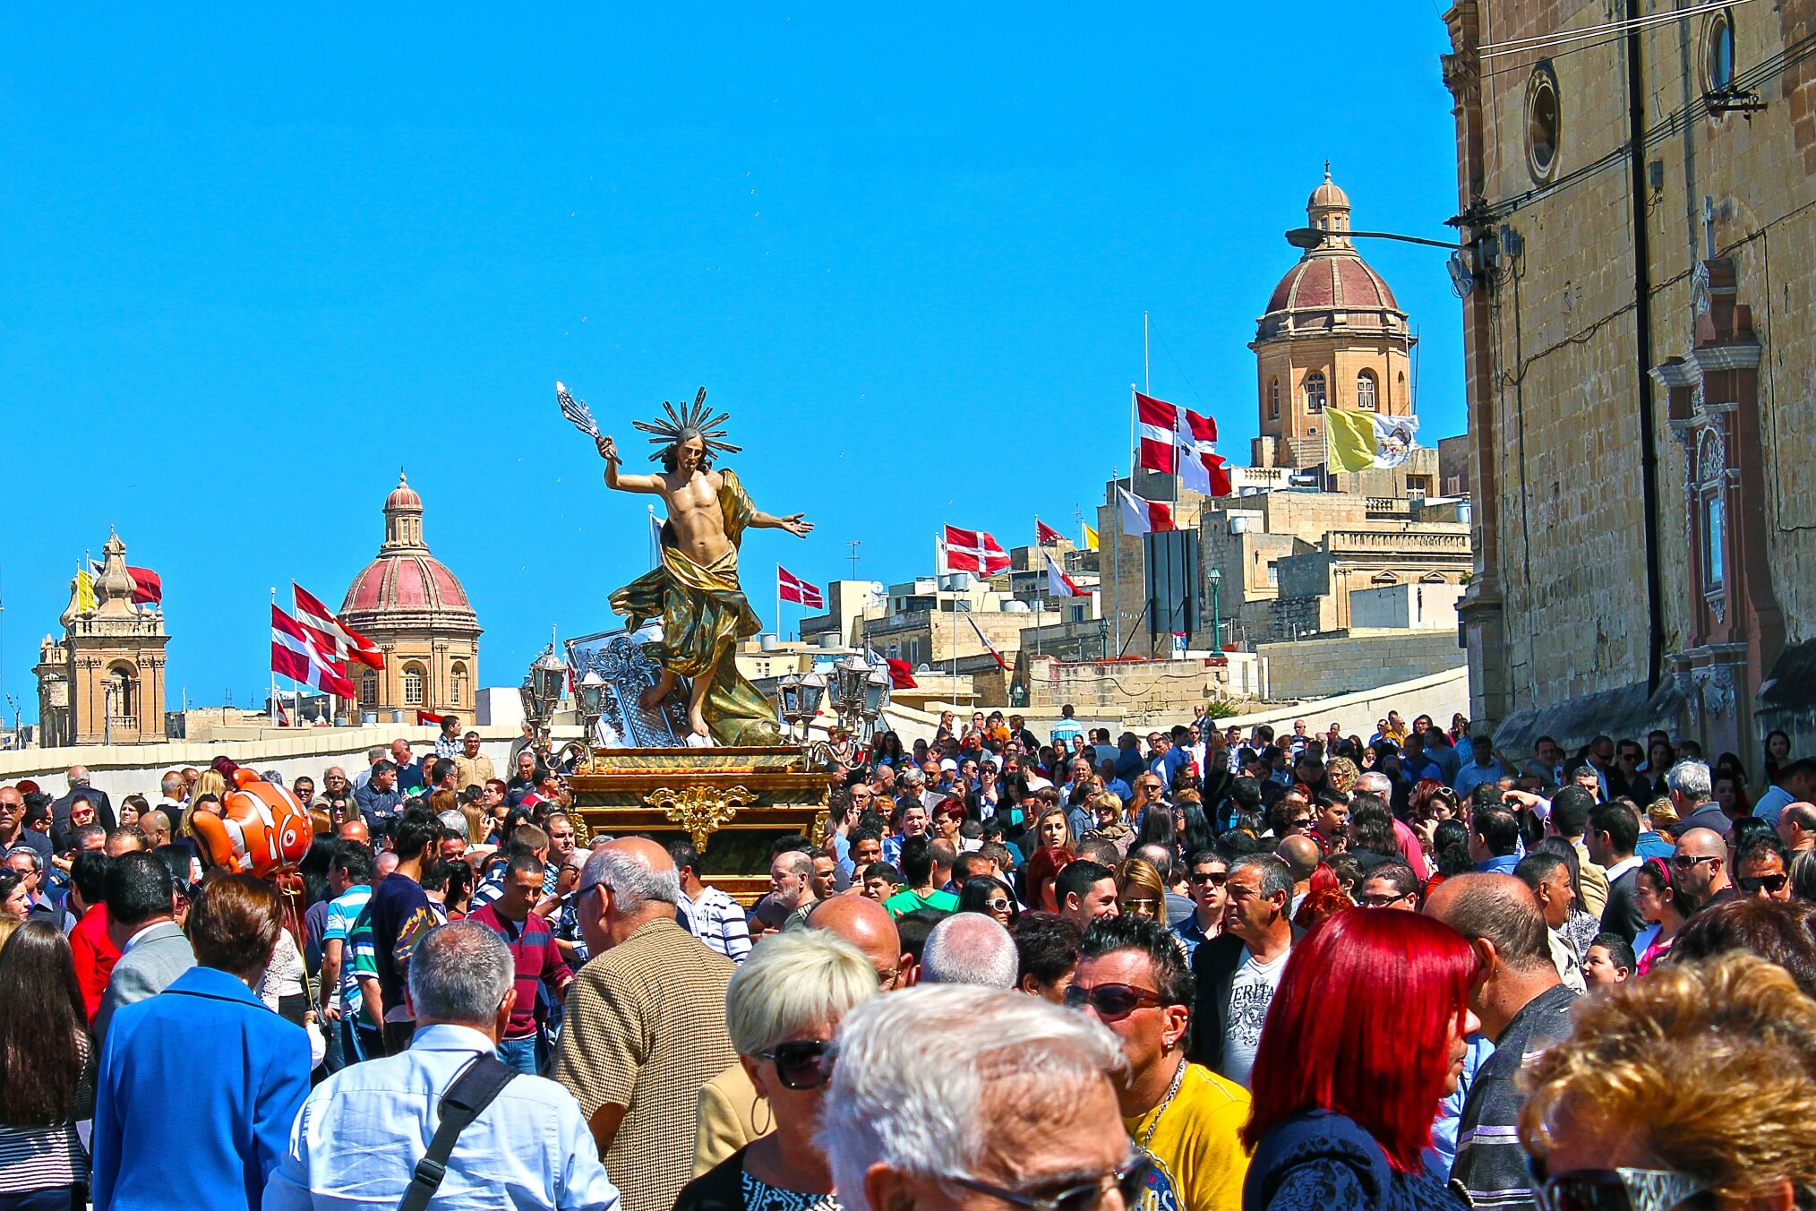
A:
[[[1605,27],[1594,38],[1560,34]],[[1456,0],[1473,715],[1816,744],[1816,0]]]

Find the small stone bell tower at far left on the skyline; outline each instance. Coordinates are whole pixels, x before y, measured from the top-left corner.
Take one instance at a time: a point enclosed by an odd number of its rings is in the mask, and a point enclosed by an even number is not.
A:
[[[69,586],[64,634],[38,646],[44,748],[163,743],[163,610],[133,605],[125,543],[107,536],[102,572]]]

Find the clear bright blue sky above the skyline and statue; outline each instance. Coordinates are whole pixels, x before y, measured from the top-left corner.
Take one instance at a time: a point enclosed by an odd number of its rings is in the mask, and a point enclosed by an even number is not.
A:
[[[256,7],[256,5],[254,5]],[[814,579],[1026,543],[1128,467],[1128,383],[1246,461],[1255,316],[1333,171],[1358,229],[1456,209],[1444,25],[1391,5],[11,5],[0,11],[0,675],[109,525],[163,574],[171,706],[265,684],[269,588],[338,603],[407,467],[481,681],[612,623],[661,399],[730,409]],[[1373,243],[1458,432],[1442,254]],[[64,448],[71,452],[60,456]],[[634,459],[641,463],[641,454]]]

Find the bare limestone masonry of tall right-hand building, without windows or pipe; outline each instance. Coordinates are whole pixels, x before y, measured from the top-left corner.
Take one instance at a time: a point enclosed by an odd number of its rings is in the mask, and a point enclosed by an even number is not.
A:
[[[1685,5],[1678,5],[1680,11]],[[1654,15],[1647,5],[1645,13]],[[1763,347],[1763,492],[1732,527],[1769,548],[1783,641],[1816,630],[1816,0],[1698,7],[1638,33],[1643,151],[1634,218],[1627,38],[1482,60],[1480,44],[1551,36],[1618,16],[1604,0],[1458,0],[1446,15],[1456,102],[1458,205],[1484,200],[1505,254],[1464,303],[1469,378],[1469,483],[1478,566],[1462,614],[1471,632],[1475,715],[1509,715],[1636,686],[1653,646],[1669,654],[1691,628],[1685,454],[1642,383],[1682,354],[1705,316],[1698,269],[1736,271]],[[1658,7],[1656,15],[1667,15]],[[1705,102],[1716,22],[1732,24],[1734,82],[1751,113]],[[1794,49],[1792,49],[1794,47]],[[1787,53],[1789,51],[1789,53]],[[1789,62],[1787,62],[1789,60]],[[1527,100],[1551,74],[1556,162],[1535,169]],[[1643,229],[1645,301],[1638,329],[1636,249]],[[1487,223],[1485,223],[1487,225]],[[1711,403],[1729,403],[1711,399]],[[1647,465],[1647,448],[1656,465]],[[1647,550],[1647,481],[1656,546]],[[1647,568],[1662,601],[1649,608]],[[1767,654],[1767,663],[1771,663]],[[1709,739],[1707,721],[1683,733]],[[1760,737],[1736,741],[1756,759]],[[1727,744],[1722,744],[1727,746]],[[1712,752],[1712,748],[1711,748]]]

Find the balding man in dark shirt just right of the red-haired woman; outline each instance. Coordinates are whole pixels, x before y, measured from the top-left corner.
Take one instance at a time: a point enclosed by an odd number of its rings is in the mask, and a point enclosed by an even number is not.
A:
[[[1558,980],[1538,897],[1513,875],[1446,879],[1426,901],[1426,915],[1462,933],[1476,951],[1482,975],[1469,991],[1469,1009],[1495,1044],[1456,1124],[1451,1178],[1478,1207],[1531,1204],[1533,1178],[1515,1135],[1524,1104],[1520,1066],[1571,1033],[1576,993]]]

